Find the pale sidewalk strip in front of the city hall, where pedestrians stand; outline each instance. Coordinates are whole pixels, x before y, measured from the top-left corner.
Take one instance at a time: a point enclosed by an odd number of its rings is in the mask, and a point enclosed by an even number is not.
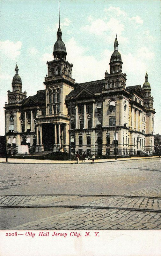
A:
[[[117,161],[130,161],[138,159],[154,159],[158,156],[149,157],[128,157],[128,158],[118,158]],[[91,160],[85,160],[85,162],[79,161],[80,164],[91,164]],[[95,164],[116,162],[114,158],[111,159],[96,159]],[[0,158],[0,163],[6,163],[5,158]],[[39,160],[39,159],[18,159],[18,158],[8,158],[8,164],[76,164],[76,160]]]

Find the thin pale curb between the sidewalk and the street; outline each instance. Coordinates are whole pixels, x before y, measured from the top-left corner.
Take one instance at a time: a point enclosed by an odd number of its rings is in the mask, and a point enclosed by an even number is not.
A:
[[[135,160],[143,160],[143,159],[156,159],[156,158],[159,158],[159,156],[158,157],[152,157],[152,158],[150,158],[150,157],[143,157],[143,158],[136,158],[136,159],[122,159],[122,160],[119,160],[119,161],[117,161],[117,160],[111,160],[111,161],[103,161],[103,162],[95,162],[94,164],[102,164],[102,163],[111,163],[111,162],[115,162],[115,163],[118,163],[118,162],[122,162],[122,161],[135,161]],[[49,160],[50,161],[50,160]],[[9,162],[0,162],[0,164],[77,164],[77,163],[9,163]],[[92,162],[84,162],[84,163],[80,163],[80,164],[92,164]]]

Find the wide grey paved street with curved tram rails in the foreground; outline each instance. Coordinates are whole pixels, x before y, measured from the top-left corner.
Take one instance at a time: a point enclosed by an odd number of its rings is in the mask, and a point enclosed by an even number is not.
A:
[[[159,158],[0,166],[1,229],[161,229]]]

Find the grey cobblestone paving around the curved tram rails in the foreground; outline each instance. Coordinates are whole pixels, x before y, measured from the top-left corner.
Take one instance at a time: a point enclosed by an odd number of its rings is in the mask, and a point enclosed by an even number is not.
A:
[[[134,191],[126,196],[1,196],[2,206],[83,206],[10,229],[161,229],[161,186]],[[138,194],[139,197],[133,197]],[[147,198],[143,197],[143,194]],[[141,196],[142,195],[142,196]],[[152,198],[152,195],[154,195]],[[150,197],[148,197],[150,196]],[[86,207],[93,207],[92,209]],[[97,207],[119,209],[97,209]],[[126,208],[126,209],[121,209]],[[128,209],[129,208],[129,209]]]

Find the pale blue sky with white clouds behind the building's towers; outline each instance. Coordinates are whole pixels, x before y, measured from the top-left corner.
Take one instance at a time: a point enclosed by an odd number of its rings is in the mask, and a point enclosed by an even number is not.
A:
[[[45,89],[46,62],[53,60],[57,40],[58,1],[1,0],[0,12],[0,135],[4,135],[3,107],[16,61],[27,97]],[[67,60],[73,63],[72,77],[78,83],[104,78],[117,33],[127,86],[143,85],[148,71],[157,112],[154,131],[161,134],[160,0],[61,0],[60,22]]]

